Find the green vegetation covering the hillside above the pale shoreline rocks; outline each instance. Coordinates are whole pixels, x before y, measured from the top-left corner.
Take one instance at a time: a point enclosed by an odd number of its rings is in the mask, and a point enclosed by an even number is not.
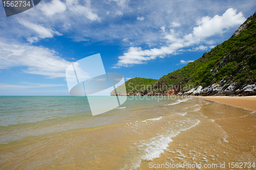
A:
[[[154,79],[134,78],[125,82],[126,91],[137,93],[147,85],[186,85],[194,87],[209,86],[225,79],[226,83],[254,84],[256,82],[256,13],[241,26],[244,29],[236,37],[232,36],[210,52],[181,69],[170,72],[158,81]],[[129,83],[130,84],[129,86]],[[122,87],[121,87],[122,86]],[[119,86],[118,91],[124,89]],[[158,87],[158,86],[156,86]],[[160,89],[159,89],[160,90]]]

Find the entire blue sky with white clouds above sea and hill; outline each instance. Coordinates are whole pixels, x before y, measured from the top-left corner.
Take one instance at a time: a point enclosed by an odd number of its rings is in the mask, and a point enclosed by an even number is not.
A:
[[[231,37],[255,0],[41,0],[0,6],[0,95],[70,95],[66,68],[100,53],[125,81],[159,79]]]

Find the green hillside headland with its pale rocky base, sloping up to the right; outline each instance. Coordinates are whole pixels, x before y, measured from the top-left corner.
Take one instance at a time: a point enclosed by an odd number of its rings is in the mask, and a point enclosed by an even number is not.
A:
[[[138,90],[132,93],[129,93],[131,90],[127,90],[127,93],[129,95],[256,95],[255,82],[256,12],[247,18],[228,40],[212,48],[210,52],[204,53],[199,59],[170,72],[158,81],[152,81],[150,89],[137,88]],[[136,85],[134,81],[132,86]],[[141,87],[141,84],[138,85]]]

